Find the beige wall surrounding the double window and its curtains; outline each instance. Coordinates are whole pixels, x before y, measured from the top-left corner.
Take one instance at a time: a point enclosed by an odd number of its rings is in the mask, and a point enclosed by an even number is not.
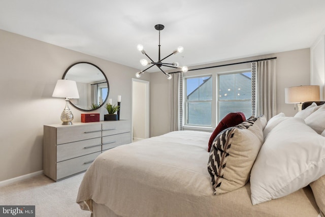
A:
[[[217,66],[229,63],[238,63],[254,59],[277,57],[276,60],[276,86],[277,86],[277,113],[283,112],[286,116],[294,116],[293,104],[284,103],[284,88],[289,86],[310,84],[310,49],[299,49],[269,55],[254,56],[249,58],[223,61],[220,63],[204,65],[201,67]],[[191,68],[189,68],[191,69]],[[220,71],[220,68],[217,68]],[[195,71],[193,71],[195,72]],[[191,72],[187,72],[191,73]],[[168,96],[171,81],[167,80],[162,73],[152,73],[150,75],[150,136],[165,134],[171,130],[171,101]]]

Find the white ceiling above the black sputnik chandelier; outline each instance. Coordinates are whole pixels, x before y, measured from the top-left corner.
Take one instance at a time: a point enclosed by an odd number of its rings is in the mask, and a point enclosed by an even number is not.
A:
[[[140,70],[138,44],[158,60],[155,24],[161,57],[182,45],[166,61],[195,66],[310,47],[325,1],[0,0],[0,29]]]

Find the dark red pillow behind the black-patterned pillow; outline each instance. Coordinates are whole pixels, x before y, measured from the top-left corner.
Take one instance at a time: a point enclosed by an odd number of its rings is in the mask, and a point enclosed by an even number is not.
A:
[[[242,112],[231,112],[224,116],[224,118],[222,118],[222,120],[219,122],[218,126],[214,129],[209,139],[208,151],[210,152],[213,140],[221,131],[239,125],[239,123],[242,123],[245,120],[245,115]]]

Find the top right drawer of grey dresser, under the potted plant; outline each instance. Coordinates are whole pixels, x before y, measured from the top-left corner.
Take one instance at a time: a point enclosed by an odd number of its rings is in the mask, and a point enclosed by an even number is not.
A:
[[[128,120],[117,120],[103,123],[103,136],[131,132],[131,122]]]

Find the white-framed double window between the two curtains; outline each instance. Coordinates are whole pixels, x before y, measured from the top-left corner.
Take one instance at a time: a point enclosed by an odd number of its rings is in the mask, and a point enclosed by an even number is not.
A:
[[[230,112],[252,115],[252,72],[250,69],[210,71],[184,78],[183,129],[210,130]]]

